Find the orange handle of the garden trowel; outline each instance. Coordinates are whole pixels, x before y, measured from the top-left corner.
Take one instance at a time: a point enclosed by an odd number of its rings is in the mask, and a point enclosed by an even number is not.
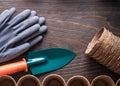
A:
[[[13,74],[20,71],[28,71],[27,63],[24,58],[22,61],[0,66],[0,76]]]

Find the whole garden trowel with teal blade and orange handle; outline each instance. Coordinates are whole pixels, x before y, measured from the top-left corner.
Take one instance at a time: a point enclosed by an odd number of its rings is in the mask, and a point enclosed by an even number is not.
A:
[[[73,51],[63,48],[50,48],[30,52],[27,60],[0,66],[0,76],[20,71],[31,71],[33,75],[60,69],[76,56]]]

